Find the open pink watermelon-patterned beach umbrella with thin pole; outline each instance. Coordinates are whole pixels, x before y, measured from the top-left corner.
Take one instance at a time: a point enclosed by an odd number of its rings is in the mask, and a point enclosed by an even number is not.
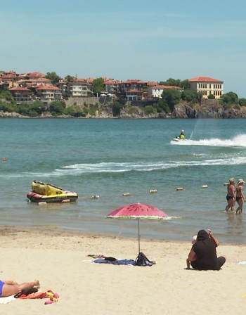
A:
[[[140,219],[167,220],[171,219],[169,215],[153,205],[145,203],[133,203],[124,205],[106,216],[111,219],[138,219],[138,252],[140,252]]]

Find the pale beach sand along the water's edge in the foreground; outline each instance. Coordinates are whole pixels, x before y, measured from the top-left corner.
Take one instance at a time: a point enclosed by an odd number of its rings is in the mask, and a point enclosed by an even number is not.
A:
[[[95,264],[88,255],[136,259],[138,240],[93,236],[51,228],[0,227],[2,280],[39,279],[58,302],[14,300],[1,314],[245,314],[245,245],[220,244],[220,271],[186,269],[186,242],[141,240],[153,266]],[[216,233],[214,233],[216,236]]]

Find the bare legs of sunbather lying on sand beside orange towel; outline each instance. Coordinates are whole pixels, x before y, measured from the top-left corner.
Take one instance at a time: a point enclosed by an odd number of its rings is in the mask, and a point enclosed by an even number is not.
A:
[[[31,288],[39,288],[39,281],[25,282],[18,284],[15,281],[1,281],[0,280],[0,297],[8,297],[15,295],[22,290],[28,290]]]

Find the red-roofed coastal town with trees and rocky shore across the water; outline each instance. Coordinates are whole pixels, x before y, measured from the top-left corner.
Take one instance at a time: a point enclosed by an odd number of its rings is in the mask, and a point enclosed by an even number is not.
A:
[[[212,77],[61,78],[56,72],[0,71],[0,117],[245,118],[246,99]]]

